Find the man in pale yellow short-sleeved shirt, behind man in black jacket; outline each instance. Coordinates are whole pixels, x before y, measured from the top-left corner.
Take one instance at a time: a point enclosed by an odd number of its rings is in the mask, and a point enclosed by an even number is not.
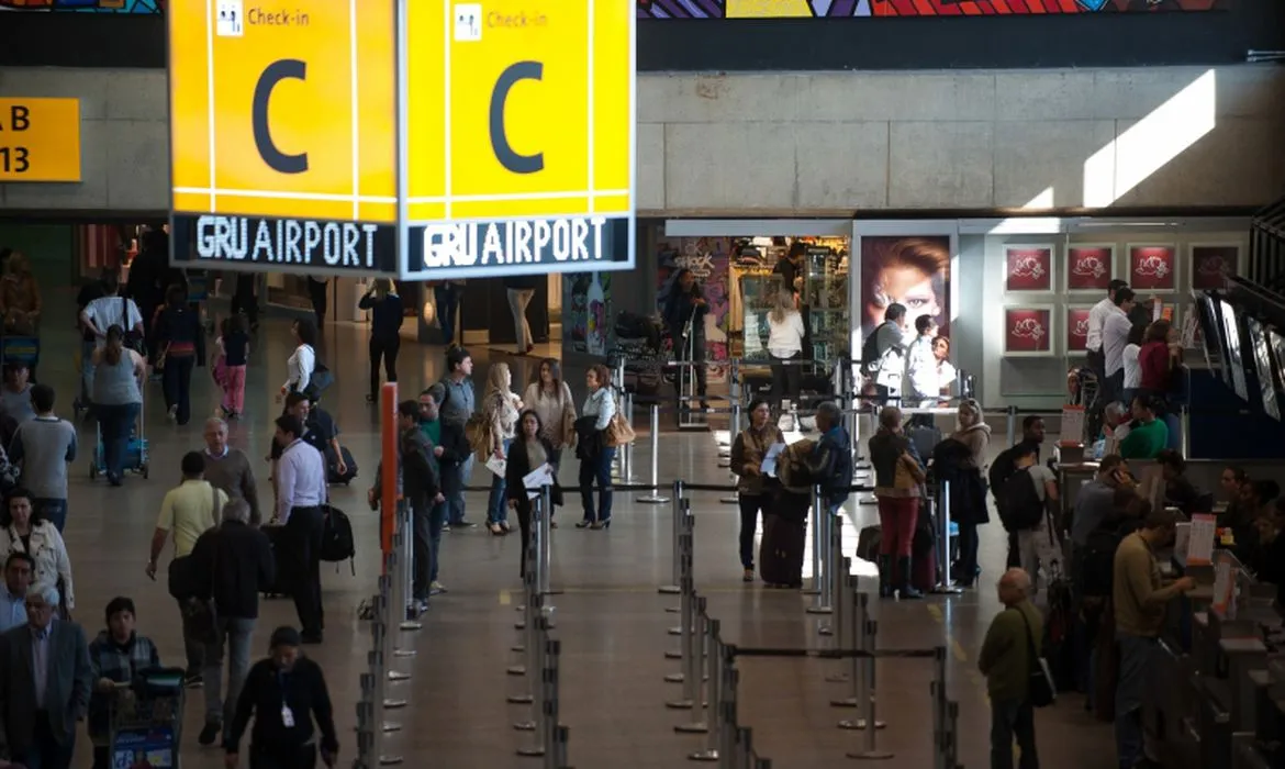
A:
[[[200,451],[188,451],[182,457],[182,482],[171,489],[161,503],[161,517],[157,518],[157,530],[152,534],[152,558],[148,561],[148,576],[157,579],[157,559],[164,549],[166,540],[173,532],[173,559],[180,561],[191,554],[191,548],[202,534],[209,531],[218,522],[224,505],[227,504],[227,494],[215,489],[206,480],[206,458]],[[172,568],[172,566],[171,566]],[[170,594],[179,601],[179,610],[182,611],[186,595],[180,597],[181,588],[170,585]],[[200,667],[204,662],[204,644],[191,638],[191,633],[184,624],[182,643],[188,652],[188,675],[185,683],[189,687],[199,687]]]

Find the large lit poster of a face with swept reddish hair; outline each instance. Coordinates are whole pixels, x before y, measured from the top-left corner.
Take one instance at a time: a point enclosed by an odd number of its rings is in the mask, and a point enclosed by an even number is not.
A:
[[[910,327],[929,315],[951,333],[951,239],[947,235],[861,238],[861,336],[883,323],[888,305],[906,307]]]

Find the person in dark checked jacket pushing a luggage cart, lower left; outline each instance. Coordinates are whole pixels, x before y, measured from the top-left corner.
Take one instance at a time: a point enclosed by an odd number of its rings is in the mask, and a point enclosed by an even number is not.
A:
[[[146,637],[134,631],[134,602],[113,598],[107,604],[107,629],[89,644],[94,693],[89,698],[89,737],[94,743],[94,769],[108,769],[108,725],[116,684],[128,684],[149,667],[161,666],[161,655]]]

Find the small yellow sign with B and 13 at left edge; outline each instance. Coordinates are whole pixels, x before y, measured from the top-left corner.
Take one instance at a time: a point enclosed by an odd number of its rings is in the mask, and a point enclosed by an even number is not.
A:
[[[80,99],[0,99],[0,181],[80,180]]]

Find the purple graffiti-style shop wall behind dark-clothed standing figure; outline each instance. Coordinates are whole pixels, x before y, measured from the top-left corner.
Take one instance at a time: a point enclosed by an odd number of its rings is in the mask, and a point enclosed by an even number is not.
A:
[[[657,303],[664,315],[678,274],[691,270],[705,297],[705,361],[721,364],[729,359],[727,328],[731,311],[731,238],[664,238],[658,244]],[[680,329],[681,333],[681,329]],[[709,381],[726,379],[723,365],[709,366]]]

